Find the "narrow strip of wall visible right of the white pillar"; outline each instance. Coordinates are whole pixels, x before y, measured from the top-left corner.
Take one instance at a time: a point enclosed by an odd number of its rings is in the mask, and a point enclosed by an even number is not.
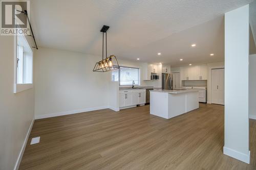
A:
[[[249,118],[256,119],[256,54],[249,56]]]

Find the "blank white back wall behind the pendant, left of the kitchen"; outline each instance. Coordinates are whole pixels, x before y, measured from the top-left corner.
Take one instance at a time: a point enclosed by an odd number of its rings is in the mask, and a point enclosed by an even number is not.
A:
[[[39,48],[34,74],[36,118],[108,108],[110,72],[92,71],[100,59]]]

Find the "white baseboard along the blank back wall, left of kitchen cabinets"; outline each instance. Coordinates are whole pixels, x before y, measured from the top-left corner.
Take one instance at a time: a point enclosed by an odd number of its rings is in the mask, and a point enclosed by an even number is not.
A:
[[[35,115],[35,119],[63,116],[63,115],[76,114],[76,113],[82,113],[82,112],[89,112],[89,111],[101,110],[101,109],[109,109],[109,107],[108,106],[100,106],[100,107],[93,107],[93,108],[86,108],[86,109],[79,109],[79,110],[71,110],[71,111],[49,113],[49,114],[43,114],[43,115]]]

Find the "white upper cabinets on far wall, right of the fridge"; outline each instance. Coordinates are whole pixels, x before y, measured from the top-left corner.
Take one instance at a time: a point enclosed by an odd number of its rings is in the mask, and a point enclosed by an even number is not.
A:
[[[181,67],[181,80],[207,80],[207,65]]]

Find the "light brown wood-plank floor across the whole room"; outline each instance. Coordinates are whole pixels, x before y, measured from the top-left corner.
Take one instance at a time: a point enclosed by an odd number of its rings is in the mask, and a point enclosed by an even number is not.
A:
[[[256,169],[256,120],[250,119],[251,163],[223,155],[224,107],[166,120],[149,106],[35,120],[19,169]],[[30,145],[32,137],[40,143]]]

